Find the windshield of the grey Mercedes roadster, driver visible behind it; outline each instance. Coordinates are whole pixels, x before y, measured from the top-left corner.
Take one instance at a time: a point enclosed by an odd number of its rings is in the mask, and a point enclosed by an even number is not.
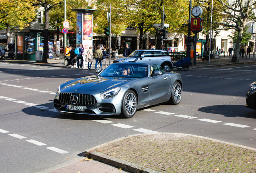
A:
[[[103,77],[127,77],[127,78],[143,78],[148,76],[148,66],[136,63],[111,64],[99,76]]]

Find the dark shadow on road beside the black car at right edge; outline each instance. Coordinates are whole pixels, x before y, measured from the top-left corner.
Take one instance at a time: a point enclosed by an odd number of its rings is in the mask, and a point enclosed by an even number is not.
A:
[[[245,117],[256,119],[256,110],[248,109],[244,105],[213,105],[201,107],[198,111],[224,115],[225,117]]]

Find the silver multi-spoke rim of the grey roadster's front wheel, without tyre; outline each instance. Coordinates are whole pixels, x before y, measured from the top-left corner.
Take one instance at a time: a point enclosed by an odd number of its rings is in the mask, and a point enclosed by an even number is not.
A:
[[[125,98],[125,111],[128,115],[133,115],[136,112],[137,99],[134,93],[129,93]]]

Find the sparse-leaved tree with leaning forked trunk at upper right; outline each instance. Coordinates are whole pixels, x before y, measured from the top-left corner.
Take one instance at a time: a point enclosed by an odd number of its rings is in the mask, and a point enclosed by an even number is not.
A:
[[[222,26],[225,30],[234,29],[237,31],[237,40],[235,43],[232,62],[239,62],[239,48],[241,46],[245,27],[248,23],[256,19],[253,10],[256,8],[254,0],[234,0],[233,4],[227,4],[226,1],[218,0],[223,6],[225,19]]]

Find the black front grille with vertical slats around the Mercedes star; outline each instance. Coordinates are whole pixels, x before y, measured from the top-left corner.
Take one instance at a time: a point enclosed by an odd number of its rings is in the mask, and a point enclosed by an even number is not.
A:
[[[71,103],[70,97],[72,95],[76,95],[78,97],[76,104]],[[93,95],[87,94],[60,93],[59,100],[60,102],[68,105],[94,105],[97,103],[97,100]]]

